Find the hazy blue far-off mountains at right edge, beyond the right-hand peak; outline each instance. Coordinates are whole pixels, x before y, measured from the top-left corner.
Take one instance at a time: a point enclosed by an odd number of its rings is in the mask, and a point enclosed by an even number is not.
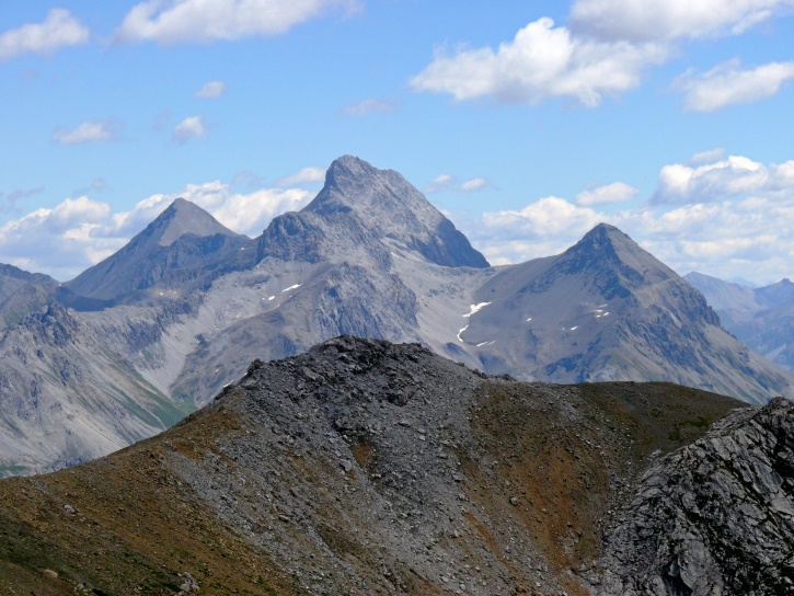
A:
[[[701,273],[684,279],[698,288],[740,342],[789,371],[794,371],[794,284],[781,279],[750,288]]]

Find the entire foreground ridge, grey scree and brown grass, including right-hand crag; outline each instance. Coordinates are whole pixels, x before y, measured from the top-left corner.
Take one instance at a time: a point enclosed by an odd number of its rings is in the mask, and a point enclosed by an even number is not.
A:
[[[0,481],[0,592],[781,594],[792,404],[741,405],[336,337],[157,437]]]

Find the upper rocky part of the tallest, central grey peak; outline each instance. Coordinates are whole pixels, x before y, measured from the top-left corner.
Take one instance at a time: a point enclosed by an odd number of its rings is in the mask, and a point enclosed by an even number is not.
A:
[[[413,255],[450,267],[487,267],[485,257],[401,174],[344,156],[318,196],[298,214],[273,220],[257,256],[303,261],[389,261]]]

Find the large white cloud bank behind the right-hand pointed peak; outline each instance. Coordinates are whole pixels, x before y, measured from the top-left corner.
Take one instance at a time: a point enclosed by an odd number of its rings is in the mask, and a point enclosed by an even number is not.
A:
[[[759,284],[794,275],[794,161],[713,158],[695,168],[661,169],[656,196],[675,192],[674,204],[649,202],[606,211],[552,196],[521,209],[485,213],[461,228],[494,264],[562,252],[605,221],[681,274],[700,271]]]

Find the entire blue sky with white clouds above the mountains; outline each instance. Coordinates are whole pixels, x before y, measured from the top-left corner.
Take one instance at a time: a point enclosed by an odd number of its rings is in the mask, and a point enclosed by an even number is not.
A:
[[[794,276],[794,0],[0,0],[0,262],[66,280],[176,196],[256,236],[338,156],[492,263],[599,221]]]

